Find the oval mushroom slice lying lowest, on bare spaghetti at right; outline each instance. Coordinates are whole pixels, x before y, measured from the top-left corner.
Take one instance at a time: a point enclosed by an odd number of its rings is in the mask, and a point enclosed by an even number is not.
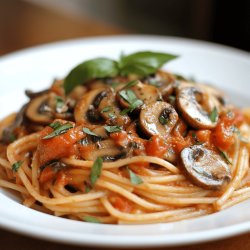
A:
[[[206,189],[220,189],[231,180],[228,165],[221,156],[202,145],[185,148],[181,163],[190,179]]]

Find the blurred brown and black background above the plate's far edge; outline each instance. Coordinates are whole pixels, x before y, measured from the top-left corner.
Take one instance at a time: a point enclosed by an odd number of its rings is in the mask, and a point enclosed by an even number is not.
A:
[[[250,51],[250,1],[0,0],[0,55],[117,34],[180,36]]]

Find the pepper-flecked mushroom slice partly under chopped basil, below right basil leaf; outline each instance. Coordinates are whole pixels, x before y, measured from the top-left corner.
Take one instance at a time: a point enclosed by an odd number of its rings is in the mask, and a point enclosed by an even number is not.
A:
[[[155,86],[143,84],[142,82],[138,81],[136,85],[130,88],[125,87],[117,92],[117,100],[123,108],[130,108],[131,103],[129,103],[127,100],[124,100],[121,95],[121,91],[132,91],[132,94],[135,95],[137,99],[143,101],[144,104],[155,102],[161,97],[158,89]],[[128,92],[127,95],[129,96]]]

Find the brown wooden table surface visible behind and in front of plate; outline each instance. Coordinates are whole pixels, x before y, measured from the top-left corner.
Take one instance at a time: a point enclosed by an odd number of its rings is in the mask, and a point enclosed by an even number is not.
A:
[[[103,24],[89,18],[74,19],[19,0],[0,0],[0,55],[62,39],[129,32],[120,27]],[[0,229],[0,249],[89,250],[98,248],[62,245]],[[203,244],[159,249],[245,250],[250,249],[250,233]]]

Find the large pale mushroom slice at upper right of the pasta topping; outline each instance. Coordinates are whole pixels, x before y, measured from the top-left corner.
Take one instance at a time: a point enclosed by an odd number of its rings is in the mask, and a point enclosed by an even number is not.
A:
[[[184,119],[193,128],[211,129],[217,125],[217,119],[210,119],[212,110],[208,110],[208,96],[198,86],[181,87],[176,99]]]

